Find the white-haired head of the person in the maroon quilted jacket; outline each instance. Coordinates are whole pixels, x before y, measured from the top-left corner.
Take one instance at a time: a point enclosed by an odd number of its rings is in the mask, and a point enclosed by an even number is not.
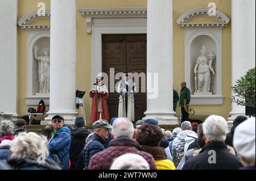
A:
[[[126,117],[119,117],[113,123],[113,136],[114,138],[120,136],[126,136],[129,138],[133,138],[134,135],[134,128],[133,123]]]

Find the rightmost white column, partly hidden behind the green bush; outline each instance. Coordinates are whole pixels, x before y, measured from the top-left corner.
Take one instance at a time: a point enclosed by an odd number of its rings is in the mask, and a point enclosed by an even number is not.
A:
[[[232,86],[255,67],[255,0],[232,0]],[[232,92],[233,94],[233,92]],[[245,107],[232,103],[229,127]]]

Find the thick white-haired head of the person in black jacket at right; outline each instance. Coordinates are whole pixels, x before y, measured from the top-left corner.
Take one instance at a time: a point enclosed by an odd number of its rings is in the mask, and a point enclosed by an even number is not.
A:
[[[203,132],[207,141],[225,141],[228,124],[224,117],[211,115],[203,123]]]

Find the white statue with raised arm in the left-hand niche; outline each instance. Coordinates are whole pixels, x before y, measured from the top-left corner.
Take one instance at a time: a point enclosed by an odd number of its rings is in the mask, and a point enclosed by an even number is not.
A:
[[[39,93],[49,93],[49,49],[44,49],[44,56],[37,56],[38,46],[34,47],[35,59],[38,60]]]

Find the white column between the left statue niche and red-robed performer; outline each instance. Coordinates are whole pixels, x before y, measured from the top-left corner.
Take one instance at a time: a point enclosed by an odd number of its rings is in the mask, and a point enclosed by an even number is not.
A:
[[[60,113],[65,123],[77,115],[76,0],[51,0],[50,100],[47,120]]]

